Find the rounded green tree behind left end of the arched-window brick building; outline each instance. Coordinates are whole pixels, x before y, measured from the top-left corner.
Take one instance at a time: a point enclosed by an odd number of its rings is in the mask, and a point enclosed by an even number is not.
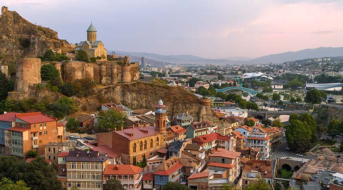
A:
[[[107,110],[98,114],[97,128],[100,131],[113,131],[115,128],[119,130],[123,124],[124,116],[120,112]]]

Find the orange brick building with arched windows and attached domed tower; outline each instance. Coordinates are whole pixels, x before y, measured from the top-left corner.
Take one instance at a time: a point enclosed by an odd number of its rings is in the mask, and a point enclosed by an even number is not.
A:
[[[150,158],[157,150],[166,148],[167,107],[159,100],[155,106],[155,126],[133,126],[117,131],[98,134],[98,146],[107,145],[121,154],[123,164],[132,164],[133,158],[142,161],[143,155]]]

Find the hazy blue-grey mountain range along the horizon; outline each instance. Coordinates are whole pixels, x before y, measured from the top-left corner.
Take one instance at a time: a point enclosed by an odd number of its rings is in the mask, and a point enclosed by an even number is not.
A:
[[[111,52],[108,51],[108,52]],[[284,53],[270,54],[254,59],[245,57],[230,57],[227,59],[207,59],[195,55],[159,55],[156,53],[145,52],[125,52],[116,51],[117,55],[129,55],[132,62],[141,62],[141,57],[145,57],[148,64],[161,66],[162,62],[182,63],[182,64],[263,64],[263,63],[282,63],[299,59],[336,57],[343,56],[343,47],[340,48],[314,48],[303,49],[299,51],[288,51]]]

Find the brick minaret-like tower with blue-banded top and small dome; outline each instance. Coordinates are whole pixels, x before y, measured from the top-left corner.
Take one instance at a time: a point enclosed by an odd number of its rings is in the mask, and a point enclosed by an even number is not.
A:
[[[155,106],[155,129],[160,133],[166,133],[167,126],[167,106],[163,105],[162,99],[160,99]]]

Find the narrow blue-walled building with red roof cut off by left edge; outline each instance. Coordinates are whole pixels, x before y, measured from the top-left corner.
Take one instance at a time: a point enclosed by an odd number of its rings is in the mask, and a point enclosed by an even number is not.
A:
[[[16,125],[16,114],[19,113],[5,112],[4,114],[0,115],[0,154],[3,154],[5,150],[5,129],[14,127]]]

